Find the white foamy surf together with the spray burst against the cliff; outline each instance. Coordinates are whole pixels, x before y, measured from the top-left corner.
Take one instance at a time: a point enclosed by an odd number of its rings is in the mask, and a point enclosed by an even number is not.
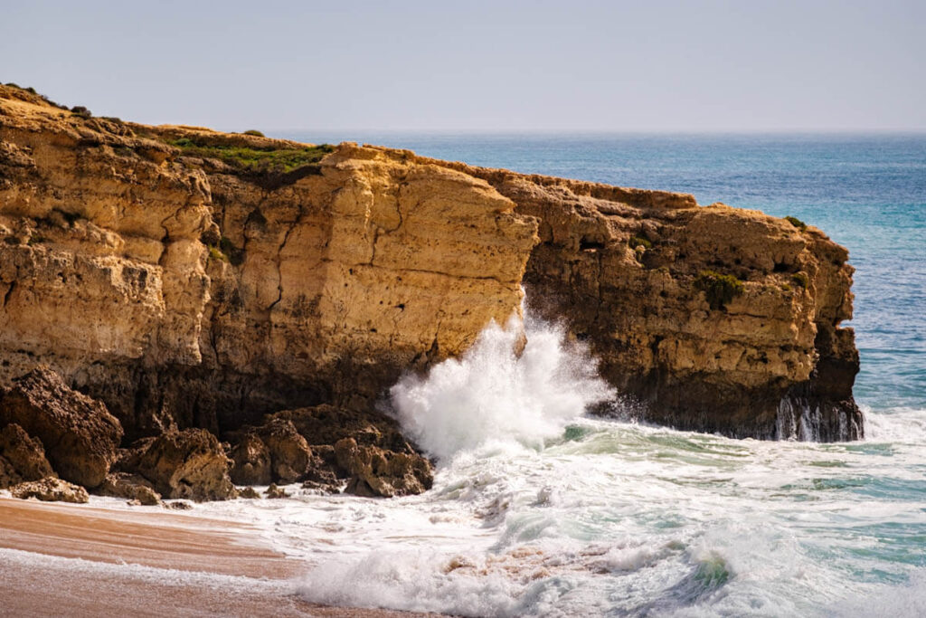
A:
[[[561,329],[492,324],[407,376],[396,415],[431,491],[232,500],[307,564],[310,602],[460,616],[922,615],[924,410],[869,439],[735,440],[582,415],[614,393]],[[94,498],[111,499],[111,498]],[[124,507],[129,508],[129,507]],[[2,558],[2,556],[0,556]]]

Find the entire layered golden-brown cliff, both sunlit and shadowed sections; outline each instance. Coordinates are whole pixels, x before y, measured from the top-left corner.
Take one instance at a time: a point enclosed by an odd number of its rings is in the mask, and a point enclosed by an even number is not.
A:
[[[523,284],[646,419],[860,435],[852,269],[820,231],[377,147],[247,160],[304,151],[0,86],[0,385],[41,360],[127,440],[372,410],[519,311]]]

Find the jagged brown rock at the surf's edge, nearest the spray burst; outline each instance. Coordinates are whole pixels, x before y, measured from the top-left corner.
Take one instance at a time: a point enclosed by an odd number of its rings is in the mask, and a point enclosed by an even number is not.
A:
[[[334,445],[338,466],[350,476],[349,494],[357,496],[407,496],[431,488],[431,463],[420,455],[396,453],[376,447],[360,447],[353,438]]]

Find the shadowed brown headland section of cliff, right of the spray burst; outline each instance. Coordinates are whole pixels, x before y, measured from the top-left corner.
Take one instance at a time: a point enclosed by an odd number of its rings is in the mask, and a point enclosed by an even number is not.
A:
[[[533,309],[565,319],[645,420],[861,437],[854,333],[838,326],[852,318],[853,268],[820,230],[691,195],[444,165],[540,221],[524,277]]]

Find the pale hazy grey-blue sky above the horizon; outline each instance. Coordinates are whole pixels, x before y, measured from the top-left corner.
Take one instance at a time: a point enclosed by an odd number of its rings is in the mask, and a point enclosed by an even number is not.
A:
[[[239,131],[926,130],[926,1],[3,1],[0,81]]]

